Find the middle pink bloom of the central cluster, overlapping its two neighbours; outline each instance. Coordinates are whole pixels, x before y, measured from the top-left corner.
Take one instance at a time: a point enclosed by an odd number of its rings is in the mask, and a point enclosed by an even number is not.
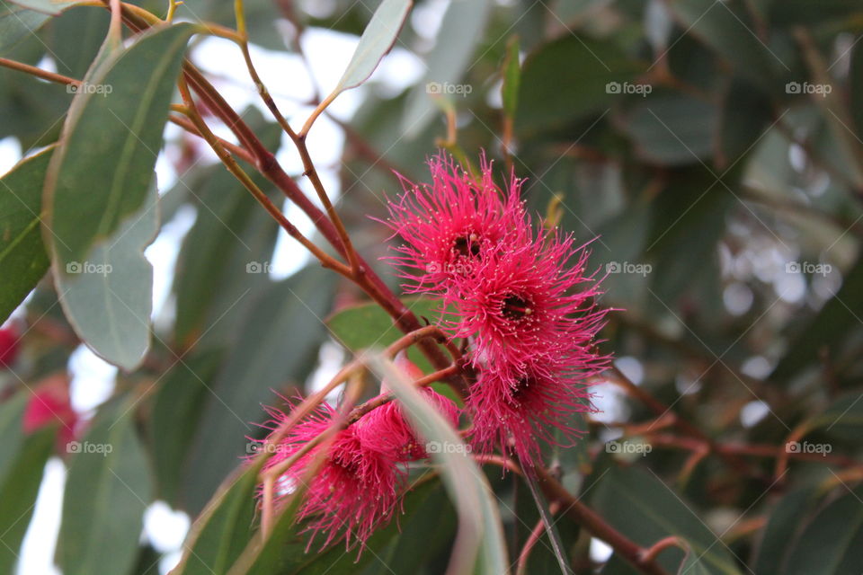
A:
[[[571,237],[529,233],[524,243],[506,243],[458,281],[448,296],[445,328],[469,338],[475,367],[494,366],[528,376],[545,363],[565,373],[590,375],[604,363],[594,338],[607,310],[585,273],[588,253]]]

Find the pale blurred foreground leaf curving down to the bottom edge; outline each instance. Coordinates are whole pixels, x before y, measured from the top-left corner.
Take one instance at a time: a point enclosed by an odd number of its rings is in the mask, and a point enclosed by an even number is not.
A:
[[[408,420],[419,435],[441,448],[429,449],[432,461],[440,466],[440,474],[458,512],[458,545],[450,567],[455,564],[470,570],[476,566],[478,573],[500,575],[508,570],[506,545],[503,542],[503,526],[498,515],[497,501],[485,474],[476,462],[467,455],[458,432],[428,403],[423,394],[411,384],[405,375],[391,362],[372,358],[375,373],[392,388],[397,400],[405,407]]]

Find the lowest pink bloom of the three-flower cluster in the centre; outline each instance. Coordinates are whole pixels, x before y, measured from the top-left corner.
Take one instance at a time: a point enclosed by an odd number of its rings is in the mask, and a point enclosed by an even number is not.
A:
[[[537,464],[540,441],[572,445],[582,432],[571,427],[573,415],[593,408],[590,394],[578,380],[531,367],[527,376],[513,377],[494,369],[481,372],[471,386],[467,410],[473,415],[471,442],[478,451],[500,447],[523,464]]]

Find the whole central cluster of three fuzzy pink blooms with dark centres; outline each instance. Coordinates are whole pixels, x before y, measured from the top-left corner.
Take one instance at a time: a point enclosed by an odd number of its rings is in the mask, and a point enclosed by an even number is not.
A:
[[[430,167],[430,185],[403,179],[390,202],[387,225],[403,241],[391,260],[407,291],[440,298],[441,327],[467,341],[476,447],[536,463],[538,439],[577,437],[568,416],[591,409],[583,382],[608,359],[595,349],[605,310],[585,246],[535,226],[521,182],[501,189],[485,159],[478,175],[443,154]]]

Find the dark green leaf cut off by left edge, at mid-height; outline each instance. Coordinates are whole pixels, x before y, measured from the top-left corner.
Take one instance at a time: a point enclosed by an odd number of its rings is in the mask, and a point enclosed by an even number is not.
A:
[[[0,323],[48,271],[40,236],[42,183],[53,148],[23,160],[0,179]]]

